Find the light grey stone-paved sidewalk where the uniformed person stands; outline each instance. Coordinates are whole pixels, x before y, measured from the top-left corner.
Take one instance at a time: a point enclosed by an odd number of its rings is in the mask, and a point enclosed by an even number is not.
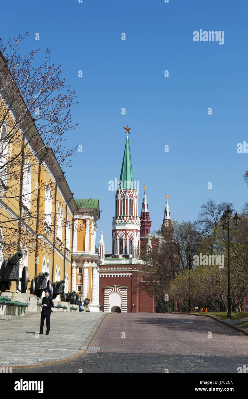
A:
[[[40,314],[0,323],[0,366],[42,363],[74,355],[95,327],[99,313],[51,314],[50,334],[40,332]]]

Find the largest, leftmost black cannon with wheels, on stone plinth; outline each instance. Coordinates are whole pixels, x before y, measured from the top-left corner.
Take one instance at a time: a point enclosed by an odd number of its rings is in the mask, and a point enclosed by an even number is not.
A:
[[[21,289],[17,287],[17,290],[25,293],[28,287],[28,267],[24,266],[22,269],[22,277],[19,278],[20,259],[22,259],[23,253],[17,251],[14,255],[8,259],[4,259],[0,268],[0,290],[2,292],[10,290],[12,281],[20,281]]]

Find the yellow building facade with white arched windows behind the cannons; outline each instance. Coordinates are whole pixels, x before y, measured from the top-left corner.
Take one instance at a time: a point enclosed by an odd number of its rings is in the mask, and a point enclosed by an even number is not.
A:
[[[0,69],[4,65],[0,53]],[[26,112],[26,105],[19,96],[15,112],[10,112],[9,97],[8,92],[0,94],[0,263],[10,254],[22,251],[19,277],[27,266],[28,293],[31,280],[45,271],[51,282],[65,280],[65,292],[69,292],[74,219],[77,219],[74,245],[81,252],[85,251],[86,243],[91,252],[91,229],[95,228],[95,221],[89,223],[87,230],[88,221],[81,218],[78,229],[79,208],[56,155],[45,146],[31,116],[25,119],[25,126],[16,125],[16,120]],[[89,286],[92,278],[89,273]],[[20,284],[12,282],[8,291],[20,290]]]

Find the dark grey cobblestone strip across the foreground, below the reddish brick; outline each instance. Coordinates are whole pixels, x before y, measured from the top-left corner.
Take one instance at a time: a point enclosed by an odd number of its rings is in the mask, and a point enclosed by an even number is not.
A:
[[[101,352],[47,366],[46,373],[237,373],[244,364],[248,365],[248,357]],[[44,369],[13,369],[12,373],[44,373]]]

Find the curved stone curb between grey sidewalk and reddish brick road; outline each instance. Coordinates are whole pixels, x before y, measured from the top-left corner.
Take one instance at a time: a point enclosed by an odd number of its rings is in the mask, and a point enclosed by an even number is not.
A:
[[[89,344],[91,343],[91,341],[93,340],[98,328],[100,327],[101,323],[103,322],[103,319],[111,313],[104,313],[99,320],[97,321],[95,327],[93,328],[93,330],[91,331],[91,333],[87,336],[86,340],[83,342],[83,345],[81,346],[81,348],[74,354],[71,356],[66,356],[65,358],[60,358],[60,359],[54,359],[54,360],[47,360],[47,361],[42,361],[40,363],[25,363],[25,364],[18,364],[18,365],[11,365],[8,364],[8,367],[12,367],[12,369],[20,369],[20,368],[35,368],[35,367],[44,367],[44,366],[51,366],[54,364],[59,364],[59,363],[65,363],[67,361],[71,361],[77,358],[80,358],[81,356],[83,356],[89,346]]]

